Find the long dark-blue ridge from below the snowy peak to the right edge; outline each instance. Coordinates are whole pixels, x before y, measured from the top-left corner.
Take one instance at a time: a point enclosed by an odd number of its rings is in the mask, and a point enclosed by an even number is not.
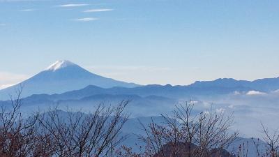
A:
[[[225,79],[227,80],[227,79]],[[278,86],[269,85],[269,80],[272,82],[278,81]],[[246,83],[243,83],[246,82]],[[102,88],[95,85],[89,85],[83,89],[77,89],[72,91],[66,91],[61,94],[33,94],[28,98],[49,98],[50,100],[64,100],[64,99],[79,99],[86,96],[91,96],[93,94],[135,94],[138,96],[163,96],[169,98],[195,98],[195,96],[218,96],[223,94],[232,94],[235,91],[248,92],[248,91],[262,91],[271,92],[279,89],[279,79],[263,79],[260,82],[255,83],[255,87],[247,83],[247,81],[237,81],[229,79],[229,81],[224,81],[224,79],[218,79],[215,81],[208,82],[195,82],[187,86],[172,86],[150,84],[140,87],[112,87],[112,88]],[[58,83],[59,84],[59,83]],[[248,85],[247,85],[248,84]],[[39,85],[38,85],[39,87]],[[26,92],[24,87],[23,93]],[[5,89],[4,89],[5,90]],[[4,92],[2,90],[2,92]],[[10,92],[10,94],[13,94]]]

